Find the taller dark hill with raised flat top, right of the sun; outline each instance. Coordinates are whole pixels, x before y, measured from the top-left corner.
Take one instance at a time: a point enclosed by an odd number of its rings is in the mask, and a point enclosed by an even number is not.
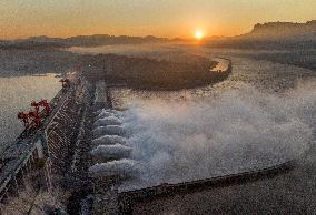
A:
[[[206,45],[237,49],[316,49],[316,20],[257,23],[249,33],[207,40]]]

